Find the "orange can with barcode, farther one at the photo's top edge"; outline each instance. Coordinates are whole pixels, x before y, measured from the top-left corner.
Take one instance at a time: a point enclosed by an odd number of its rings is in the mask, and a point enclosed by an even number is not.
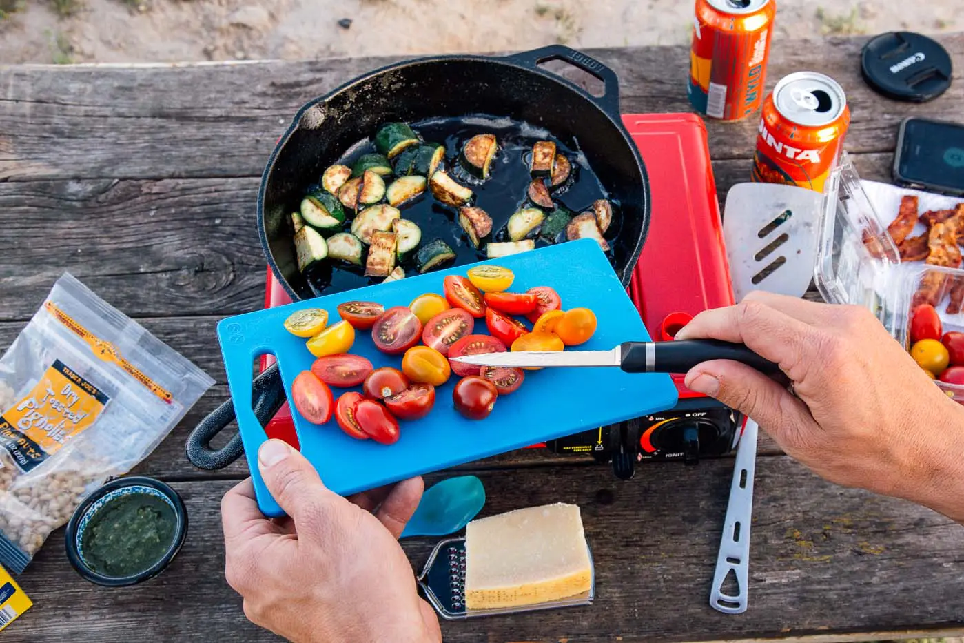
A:
[[[738,121],[757,111],[776,12],[776,0],[696,0],[687,93],[698,112]]]

